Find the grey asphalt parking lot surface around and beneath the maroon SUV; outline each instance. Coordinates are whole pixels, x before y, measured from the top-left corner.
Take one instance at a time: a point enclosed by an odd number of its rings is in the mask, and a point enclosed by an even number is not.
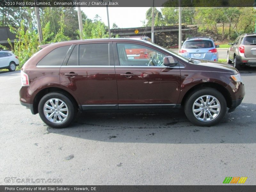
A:
[[[0,73],[0,185],[256,185],[256,68],[241,76],[245,98],[216,126],[171,110],[83,113],[52,129],[20,105],[20,72]]]

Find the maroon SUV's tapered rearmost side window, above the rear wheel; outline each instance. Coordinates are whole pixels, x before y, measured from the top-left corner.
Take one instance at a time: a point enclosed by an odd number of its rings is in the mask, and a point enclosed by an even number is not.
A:
[[[61,66],[69,47],[68,45],[52,50],[37,63],[37,66]]]

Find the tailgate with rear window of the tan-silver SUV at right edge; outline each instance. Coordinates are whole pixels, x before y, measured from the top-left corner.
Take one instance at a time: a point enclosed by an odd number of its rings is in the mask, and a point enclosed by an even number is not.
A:
[[[244,37],[244,56],[256,57],[256,36]]]

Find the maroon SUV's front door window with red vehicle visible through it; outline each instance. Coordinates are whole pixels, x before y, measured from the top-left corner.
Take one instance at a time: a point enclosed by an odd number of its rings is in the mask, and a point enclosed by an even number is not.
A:
[[[117,43],[119,63],[121,66],[163,66],[165,54],[149,47]]]

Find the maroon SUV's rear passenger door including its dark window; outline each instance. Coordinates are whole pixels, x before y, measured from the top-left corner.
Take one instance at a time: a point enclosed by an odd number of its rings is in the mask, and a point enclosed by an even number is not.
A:
[[[112,42],[74,44],[71,49],[60,68],[60,84],[83,110],[117,109]]]

